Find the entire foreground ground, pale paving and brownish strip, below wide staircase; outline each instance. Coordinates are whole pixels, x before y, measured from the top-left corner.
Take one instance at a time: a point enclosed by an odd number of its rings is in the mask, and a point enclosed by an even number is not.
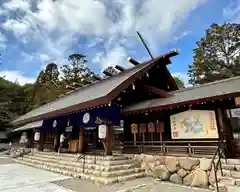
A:
[[[142,178],[114,185],[96,185],[52,172],[13,163],[6,156],[0,156],[1,192],[123,192],[135,187],[134,192],[204,192],[180,185],[156,182]],[[126,192],[126,190],[124,191]]]

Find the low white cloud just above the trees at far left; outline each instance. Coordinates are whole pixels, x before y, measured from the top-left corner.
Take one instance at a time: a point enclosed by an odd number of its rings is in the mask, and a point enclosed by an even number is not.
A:
[[[35,78],[25,77],[20,71],[0,71],[0,77],[5,77],[12,82],[18,82],[20,85],[35,81]]]

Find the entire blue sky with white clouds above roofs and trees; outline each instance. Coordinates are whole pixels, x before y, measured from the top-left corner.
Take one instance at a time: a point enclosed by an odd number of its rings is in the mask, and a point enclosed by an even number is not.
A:
[[[66,64],[72,53],[87,55],[100,74],[127,58],[178,49],[169,70],[188,84],[196,42],[213,23],[240,22],[240,0],[0,0],[0,76],[34,82],[48,63]]]

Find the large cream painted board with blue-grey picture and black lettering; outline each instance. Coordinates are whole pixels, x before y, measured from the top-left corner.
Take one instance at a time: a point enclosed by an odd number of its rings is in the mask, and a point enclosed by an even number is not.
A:
[[[214,111],[188,110],[172,115],[172,139],[217,139],[218,129]]]

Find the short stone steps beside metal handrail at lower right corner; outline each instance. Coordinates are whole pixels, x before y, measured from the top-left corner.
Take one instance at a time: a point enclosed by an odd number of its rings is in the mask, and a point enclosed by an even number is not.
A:
[[[240,191],[240,159],[227,159],[221,160],[223,176],[221,176],[220,170],[217,175],[219,178],[219,186],[221,188],[227,188],[228,192]],[[226,190],[226,189],[225,189]]]

